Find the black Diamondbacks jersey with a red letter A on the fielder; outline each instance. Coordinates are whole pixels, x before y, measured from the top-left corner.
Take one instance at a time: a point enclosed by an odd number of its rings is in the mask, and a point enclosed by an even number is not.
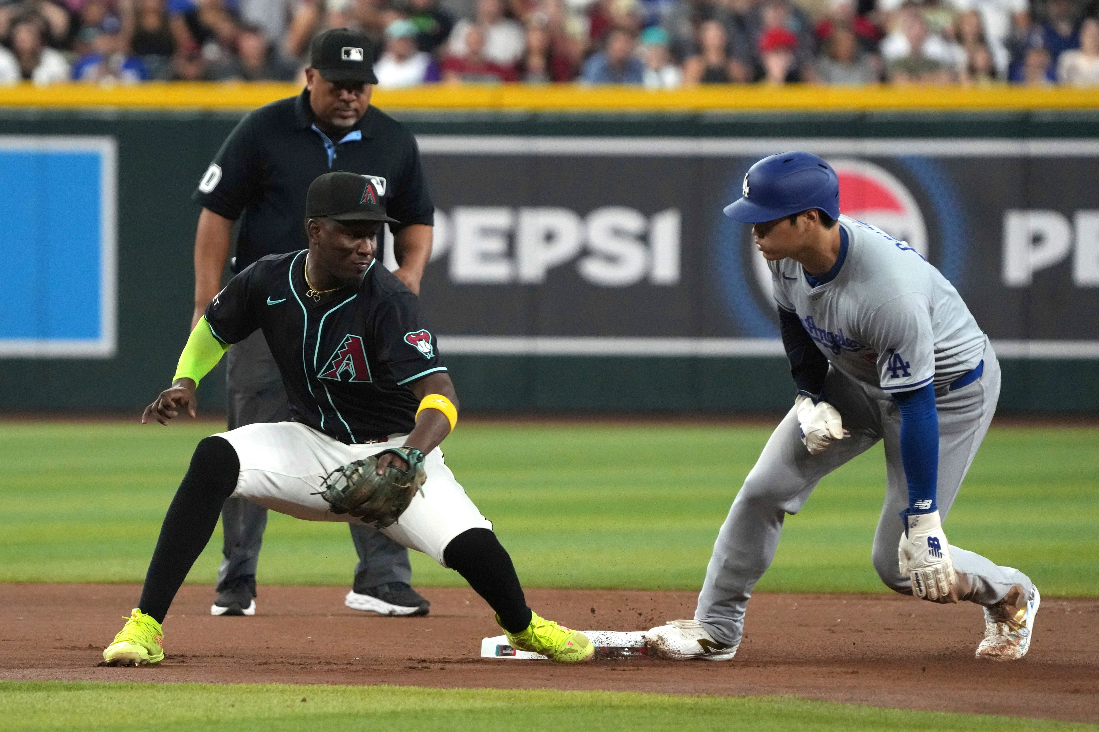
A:
[[[295,421],[341,442],[407,433],[419,401],[409,384],[446,371],[420,303],[375,260],[355,284],[306,296],[306,251],[264,257],[207,306],[214,337],[264,331]]]

